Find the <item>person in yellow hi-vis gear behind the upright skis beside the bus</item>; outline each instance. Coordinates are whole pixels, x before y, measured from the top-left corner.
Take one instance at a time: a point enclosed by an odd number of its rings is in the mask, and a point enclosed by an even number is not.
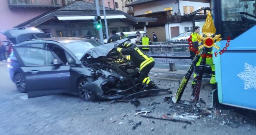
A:
[[[200,32],[200,27],[196,26],[195,29],[194,29],[194,32],[190,35],[189,39],[188,40],[192,40],[193,41],[193,46],[198,49],[198,41],[197,41],[197,36],[199,35],[199,32]],[[196,44],[196,46],[195,46]],[[198,50],[200,51],[200,50]],[[211,56],[211,57],[209,57]],[[200,65],[202,61],[202,57],[199,58],[196,66]],[[215,65],[213,65],[213,59],[212,59],[212,48],[206,48],[206,65],[210,65],[210,74],[211,74],[211,79],[210,79],[210,84],[211,84],[211,89],[214,90],[217,88],[217,82],[215,81]],[[206,69],[204,70],[206,71]],[[192,88],[193,88],[193,91],[195,89],[195,77],[197,76],[197,74],[194,74],[194,79],[192,81]],[[194,93],[192,93],[191,95],[191,100],[195,100],[195,95]]]

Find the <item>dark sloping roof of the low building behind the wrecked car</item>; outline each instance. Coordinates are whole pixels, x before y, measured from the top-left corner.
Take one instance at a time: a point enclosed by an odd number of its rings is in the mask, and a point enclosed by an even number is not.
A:
[[[100,9],[103,9],[100,6]],[[103,10],[100,10],[100,14],[103,14]],[[64,7],[59,9],[55,9],[53,11],[41,14],[35,18],[32,18],[24,23],[21,23],[15,27],[35,27],[44,23],[52,18],[56,18],[57,16],[96,16],[96,8],[94,4],[84,1],[74,1]],[[106,7],[106,15],[124,15],[129,20],[133,22],[156,22],[157,18],[137,18],[131,16],[130,14],[124,13],[119,10],[109,9]]]

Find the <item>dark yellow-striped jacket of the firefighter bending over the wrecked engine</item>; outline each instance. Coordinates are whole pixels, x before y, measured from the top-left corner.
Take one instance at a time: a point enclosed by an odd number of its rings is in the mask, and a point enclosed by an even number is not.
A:
[[[130,43],[131,44],[131,43]],[[141,49],[139,49],[135,44],[127,49],[118,47],[117,51],[122,55],[128,55],[126,59],[132,60],[136,67],[139,67],[140,71],[145,68],[148,64],[154,61],[152,57],[149,57]]]

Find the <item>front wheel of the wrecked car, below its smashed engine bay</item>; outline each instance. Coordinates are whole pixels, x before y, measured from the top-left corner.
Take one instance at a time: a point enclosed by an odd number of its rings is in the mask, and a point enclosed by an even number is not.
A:
[[[77,90],[79,97],[84,101],[94,101],[96,99],[96,94],[91,90],[83,88],[83,85],[87,83],[85,78],[82,78],[77,83]]]

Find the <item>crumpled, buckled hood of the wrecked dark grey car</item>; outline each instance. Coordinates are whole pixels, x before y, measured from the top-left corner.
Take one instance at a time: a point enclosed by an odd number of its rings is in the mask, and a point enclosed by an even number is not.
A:
[[[97,59],[99,57],[108,56],[109,53],[115,51],[114,50],[115,45],[121,45],[126,40],[128,40],[128,39],[122,39],[122,40],[114,41],[114,42],[111,42],[108,44],[100,45],[98,47],[93,47],[90,50],[88,50],[87,52],[85,52],[85,54],[83,54],[83,56],[80,60],[87,59],[87,57]]]

